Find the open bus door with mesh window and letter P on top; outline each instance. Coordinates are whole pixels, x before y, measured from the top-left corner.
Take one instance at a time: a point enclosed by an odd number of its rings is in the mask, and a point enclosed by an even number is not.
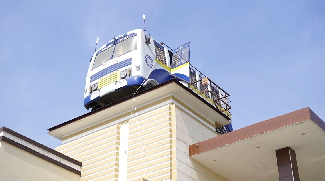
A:
[[[184,84],[186,87],[188,87],[189,82],[189,47],[190,43],[188,42],[184,44],[181,47],[178,47],[174,50],[173,58],[171,62],[171,74],[179,77],[181,79],[176,78],[178,81],[180,81],[182,84]],[[186,80],[185,81],[182,81]]]

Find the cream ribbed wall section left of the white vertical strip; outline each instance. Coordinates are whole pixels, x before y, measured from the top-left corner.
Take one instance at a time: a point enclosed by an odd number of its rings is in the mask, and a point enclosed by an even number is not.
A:
[[[56,148],[82,162],[81,181],[117,180],[120,127],[114,125]]]

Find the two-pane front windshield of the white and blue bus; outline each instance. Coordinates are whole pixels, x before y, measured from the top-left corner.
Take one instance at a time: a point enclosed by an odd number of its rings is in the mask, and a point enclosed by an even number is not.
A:
[[[127,52],[136,50],[136,36],[131,36],[124,40],[123,38],[121,38],[121,40],[117,40],[117,41],[118,42],[115,45],[112,59],[121,56]],[[92,69],[110,60],[112,50],[113,50],[113,46],[97,54]]]

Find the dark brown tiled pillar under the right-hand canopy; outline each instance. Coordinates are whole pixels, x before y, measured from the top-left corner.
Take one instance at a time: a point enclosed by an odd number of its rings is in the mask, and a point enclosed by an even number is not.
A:
[[[288,147],[275,151],[277,155],[279,181],[300,181],[296,152]]]

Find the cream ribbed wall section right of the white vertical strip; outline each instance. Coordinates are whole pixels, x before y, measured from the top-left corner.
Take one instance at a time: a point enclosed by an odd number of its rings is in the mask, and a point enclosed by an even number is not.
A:
[[[170,115],[165,105],[130,119],[127,179],[171,180]]]

